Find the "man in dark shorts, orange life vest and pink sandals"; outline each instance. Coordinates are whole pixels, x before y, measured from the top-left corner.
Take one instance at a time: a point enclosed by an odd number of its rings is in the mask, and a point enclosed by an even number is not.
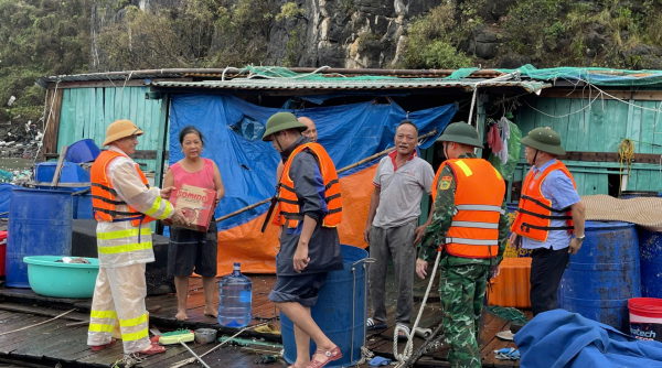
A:
[[[320,144],[301,136],[307,129],[292,113],[278,112],[263,136],[285,161],[276,218],[281,225],[280,251],[269,300],[295,325],[297,360],[290,367],[321,368],[342,357],[310,314],[327,272],[343,268],[337,229],[342,203],[333,161]],[[311,338],[318,347],[312,359]]]

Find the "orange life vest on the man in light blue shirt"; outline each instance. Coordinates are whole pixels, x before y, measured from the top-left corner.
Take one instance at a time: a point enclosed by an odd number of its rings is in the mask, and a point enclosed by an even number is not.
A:
[[[549,230],[568,230],[572,232],[575,229],[570,208],[554,209],[552,208],[552,199],[543,196],[541,190],[543,181],[555,170],[563,171],[573,181],[573,186],[577,188],[573,174],[560,161],[556,161],[543,172],[534,174],[534,171],[531,170],[524,178],[520,208],[511,226],[511,231],[533,240],[546,241]],[[566,226],[552,227],[553,219],[565,219]]]

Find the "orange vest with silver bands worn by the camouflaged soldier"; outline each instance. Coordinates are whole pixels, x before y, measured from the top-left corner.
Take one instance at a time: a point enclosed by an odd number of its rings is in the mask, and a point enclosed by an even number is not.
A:
[[[503,214],[505,183],[483,159],[446,160],[433,182],[437,198],[439,175],[445,165],[455,174],[455,215],[446,234],[445,249],[456,257],[494,258],[499,255],[499,219]],[[444,177],[441,178],[444,184]]]

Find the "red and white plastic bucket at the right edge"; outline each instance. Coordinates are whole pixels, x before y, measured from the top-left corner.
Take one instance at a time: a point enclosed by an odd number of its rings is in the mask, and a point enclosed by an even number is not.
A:
[[[662,342],[662,299],[632,297],[630,310],[630,333],[639,339]]]

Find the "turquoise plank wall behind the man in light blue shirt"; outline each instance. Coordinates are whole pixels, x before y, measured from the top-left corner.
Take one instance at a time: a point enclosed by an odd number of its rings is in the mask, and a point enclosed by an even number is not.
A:
[[[517,111],[515,120],[523,136],[534,128],[549,127],[560,134],[566,151],[618,152],[620,142],[629,138],[637,141],[636,153],[660,153],[660,165],[632,165],[627,190],[662,192],[662,123],[658,125],[661,117],[653,111],[660,109],[660,101],[634,101],[650,110],[618,100],[597,99],[590,107],[587,107],[588,99],[530,98]],[[573,172],[580,195],[609,194],[608,175],[618,175],[620,171],[619,162],[565,163]],[[522,180],[527,169],[520,164],[515,181]]]

